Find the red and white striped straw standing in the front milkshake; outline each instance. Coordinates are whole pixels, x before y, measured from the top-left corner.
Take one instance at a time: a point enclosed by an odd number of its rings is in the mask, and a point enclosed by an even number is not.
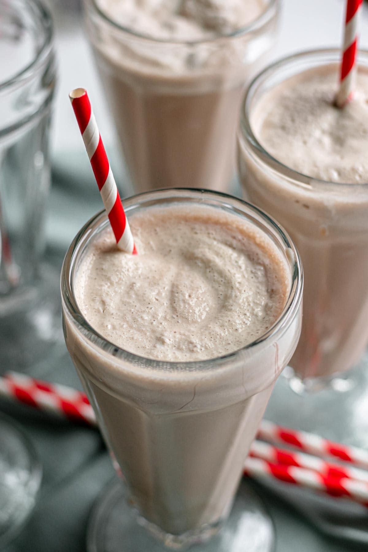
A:
[[[122,207],[113,171],[111,171],[87,91],[84,88],[76,88],[72,90],[69,97],[116,243],[122,251],[135,254],[137,250],[129,222]]]

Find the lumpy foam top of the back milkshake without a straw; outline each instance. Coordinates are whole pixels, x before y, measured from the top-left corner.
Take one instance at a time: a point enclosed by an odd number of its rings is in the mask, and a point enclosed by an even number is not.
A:
[[[97,0],[114,22],[160,40],[205,40],[252,23],[266,0]]]

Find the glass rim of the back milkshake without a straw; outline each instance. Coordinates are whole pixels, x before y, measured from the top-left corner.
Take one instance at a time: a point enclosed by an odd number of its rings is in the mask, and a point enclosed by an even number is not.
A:
[[[140,38],[143,40],[151,41],[153,43],[158,44],[183,44],[183,45],[196,45],[196,44],[210,44],[214,41],[222,38],[238,38],[239,36],[243,36],[246,34],[253,33],[254,31],[257,31],[261,29],[263,26],[268,24],[270,19],[273,17],[273,13],[275,9],[278,9],[280,0],[269,0],[269,4],[262,12],[257,19],[254,19],[254,21],[250,22],[247,25],[242,26],[241,28],[237,29],[236,31],[233,31],[232,33],[224,33],[224,34],[218,34],[217,36],[214,36],[214,38],[210,39],[204,39],[204,40],[172,40],[172,39],[157,39],[154,38],[154,36],[146,35],[144,33],[137,33],[136,31],[130,29],[129,27],[125,27],[124,25],[120,25],[119,23],[116,23],[113,19],[110,19],[108,15],[106,15],[98,6],[96,0],[84,0],[85,6],[92,7],[92,9],[101,17],[106,23],[109,23],[111,26],[113,26],[115,29],[122,31],[125,34],[134,36],[135,38]]]

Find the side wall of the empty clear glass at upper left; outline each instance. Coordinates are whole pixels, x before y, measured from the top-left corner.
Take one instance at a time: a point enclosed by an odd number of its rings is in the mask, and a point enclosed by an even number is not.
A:
[[[13,22],[19,19],[19,27],[24,25],[35,48],[28,65],[8,81],[0,82],[0,293],[2,310],[11,311],[27,300],[25,286],[36,278],[44,251],[56,62],[52,21],[42,4],[38,0],[17,0],[14,4],[2,0],[1,6],[4,22],[7,17]]]

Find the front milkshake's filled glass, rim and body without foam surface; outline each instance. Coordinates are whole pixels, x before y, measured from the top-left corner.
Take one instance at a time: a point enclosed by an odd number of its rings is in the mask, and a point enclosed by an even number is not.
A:
[[[200,550],[231,551],[236,545],[234,534],[244,530],[244,506],[238,507],[234,515],[240,517],[228,530],[207,544],[204,541],[226,522],[275,379],[295,350],[301,326],[302,269],[293,243],[280,227],[262,211],[231,196],[158,190],[125,200],[124,208],[129,217],[170,205],[210,206],[249,221],[273,241],[290,270],[290,293],[279,319],[246,347],[196,362],[143,358],[106,341],[84,318],[74,295],[78,264],[109,224],[103,212],[79,232],[63,264],[65,341],[115,467],[125,477],[125,496],[140,513],[140,524],[172,548],[201,543]],[[119,550],[119,538],[126,540],[130,530],[134,550],[147,550],[150,543],[161,550],[162,545],[138,532],[122,498],[121,513],[114,514],[116,501],[116,497],[105,499],[94,517],[95,523],[103,523],[99,530],[90,529],[90,550],[104,550],[107,541],[101,544],[101,539],[107,533],[114,542],[109,550]],[[258,550],[264,542],[262,535],[258,537],[252,535],[249,550]],[[262,550],[268,550],[269,544]]]

